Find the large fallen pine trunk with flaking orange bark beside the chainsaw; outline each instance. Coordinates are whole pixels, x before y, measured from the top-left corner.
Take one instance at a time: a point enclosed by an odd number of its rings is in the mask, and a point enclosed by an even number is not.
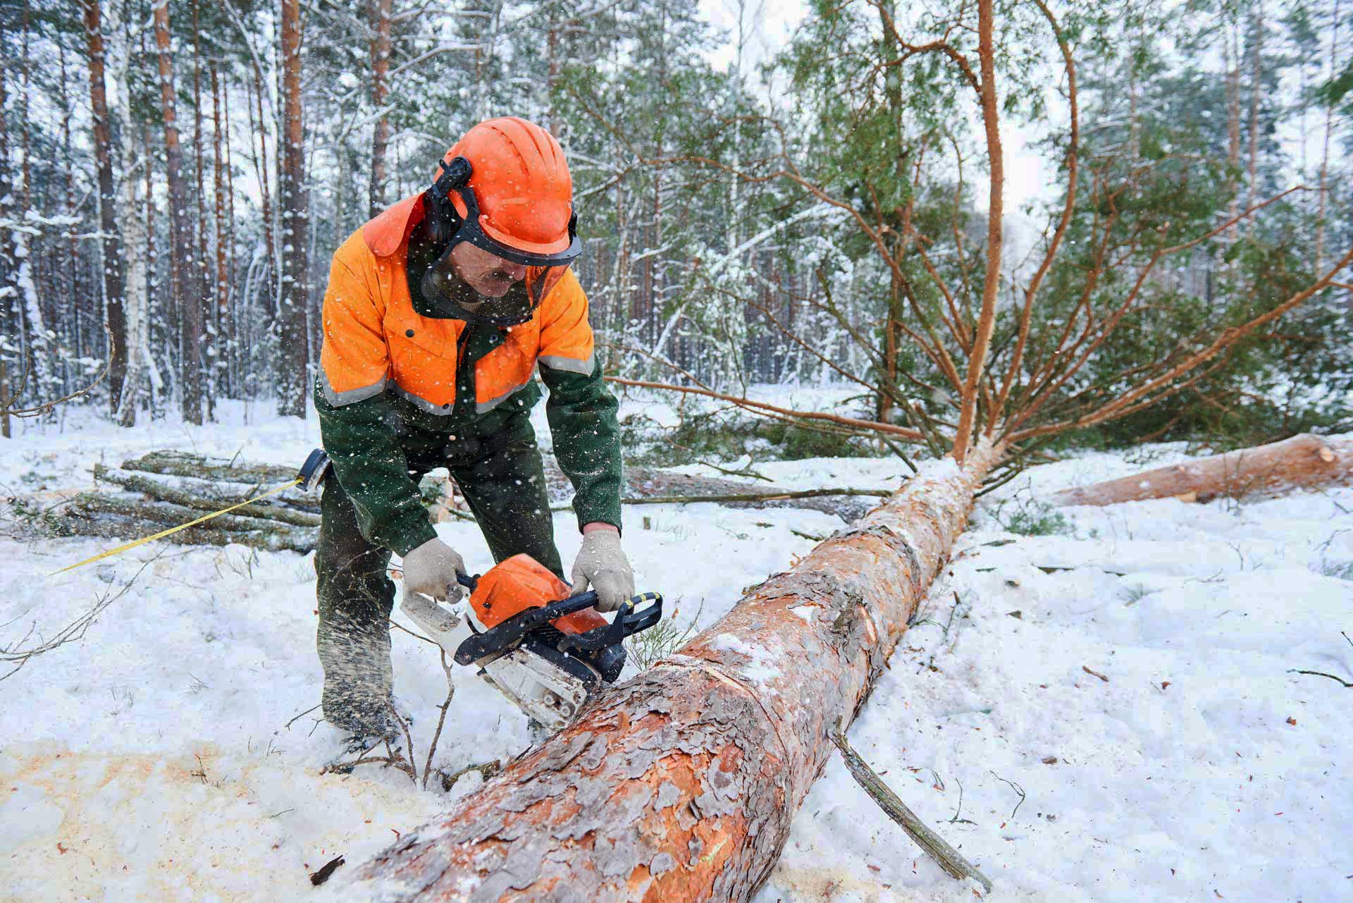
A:
[[[747,593],[452,812],[359,868],[342,900],[747,900],[999,460],[978,445]]]

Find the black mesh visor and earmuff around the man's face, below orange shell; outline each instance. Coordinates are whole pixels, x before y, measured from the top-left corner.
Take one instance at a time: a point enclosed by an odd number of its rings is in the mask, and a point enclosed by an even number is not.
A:
[[[457,165],[464,164],[464,165]],[[576,214],[568,221],[568,246],[553,255],[513,248],[488,236],[474,190],[465,184],[469,164],[457,157],[442,162],[441,175],[428,191],[429,233],[444,244],[419,284],[423,296],[459,320],[487,326],[517,326],[540,307],[549,290],[582,252]],[[461,215],[451,200],[456,192],[465,207]],[[457,250],[460,245],[471,245]]]

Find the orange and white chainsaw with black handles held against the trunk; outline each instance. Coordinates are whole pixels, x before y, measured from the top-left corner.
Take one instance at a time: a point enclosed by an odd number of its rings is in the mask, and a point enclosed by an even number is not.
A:
[[[307,490],[329,470],[322,449],[298,477]],[[471,635],[456,644],[460,615],[421,593],[403,593],[399,608],[457,665],[479,673],[528,716],[551,731],[567,727],[602,684],[625,666],[624,640],[663,616],[660,593],[632,596],[607,621],[597,593],[571,588],[530,555],[513,555],[482,575],[457,574],[469,590]],[[476,627],[478,621],[478,627]]]

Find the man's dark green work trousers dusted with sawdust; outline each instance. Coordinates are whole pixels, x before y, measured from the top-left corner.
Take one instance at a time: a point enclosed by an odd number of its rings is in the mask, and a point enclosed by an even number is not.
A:
[[[525,552],[564,575],[540,449],[525,414],[488,436],[413,431],[402,443],[414,478],[437,467],[451,471],[495,562]],[[317,646],[325,670],[325,719],[357,734],[386,735],[391,726],[390,612],[395,600],[386,573],[391,552],[361,535],[357,510],[331,472],[321,512]],[[474,570],[475,551],[457,551]]]

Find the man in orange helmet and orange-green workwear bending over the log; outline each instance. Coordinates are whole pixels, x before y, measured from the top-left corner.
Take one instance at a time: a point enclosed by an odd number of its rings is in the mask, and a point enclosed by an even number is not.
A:
[[[518,118],[471,129],[434,184],[338,248],[323,302],[315,408],[333,462],[315,570],[323,713],[388,736],[391,552],[405,592],[463,593],[417,479],[448,467],[495,560],[525,552],[563,577],[529,412],[547,417],[583,533],[574,592],[601,611],[635,592],[620,547],[616,399],[593,353],[572,179],[555,138]]]

